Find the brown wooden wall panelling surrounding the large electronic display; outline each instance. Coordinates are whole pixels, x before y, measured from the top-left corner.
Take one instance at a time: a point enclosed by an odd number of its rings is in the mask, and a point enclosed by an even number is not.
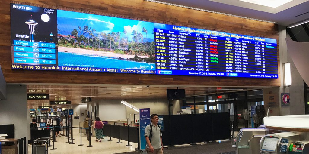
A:
[[[10,0],[0,5],[0,64],[7,83],[81,83],[81,84],[142,84],[194,86],[280,86],[279,79],[233,77],[136,75],[93,72],[35,71],[11,69]],[[49,8],[76,10],[95,14],[116,14],[146,21],[191,26],[203,29],[277,39],[276,24],[213,14],[142,0],[21,0]],[[279,60],[279,45],[278,60]],[[279,65],[279,63],[278,63]],[[279,72],[280,75],[280,72]]]

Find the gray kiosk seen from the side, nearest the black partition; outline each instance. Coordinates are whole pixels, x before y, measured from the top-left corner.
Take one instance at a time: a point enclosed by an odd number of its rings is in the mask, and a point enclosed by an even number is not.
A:
[[[236,154],[260,154],[260,140],[267,128],[243,128],[236,136]]]

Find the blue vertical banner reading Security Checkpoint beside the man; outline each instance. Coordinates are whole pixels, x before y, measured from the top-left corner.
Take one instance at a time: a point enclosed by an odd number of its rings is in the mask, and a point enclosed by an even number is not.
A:
[[[146,126],[150,124],[150,109],[140,108],[139,109],[139,147],[142,151],[146,151],[146,139],[145,139],[145,129]]]

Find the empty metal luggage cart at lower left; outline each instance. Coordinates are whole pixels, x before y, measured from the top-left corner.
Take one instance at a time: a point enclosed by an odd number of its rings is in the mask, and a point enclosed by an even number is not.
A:
[[[38,138],[33,141],[32,154],[48,154],[49,137]]]

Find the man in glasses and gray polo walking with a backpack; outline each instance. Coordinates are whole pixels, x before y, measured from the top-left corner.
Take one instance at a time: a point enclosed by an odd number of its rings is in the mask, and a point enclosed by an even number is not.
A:
[[[157,114],[150,116],[151,124],[145,128],[146,151],[148,154],[163,154],[162,132]]]

